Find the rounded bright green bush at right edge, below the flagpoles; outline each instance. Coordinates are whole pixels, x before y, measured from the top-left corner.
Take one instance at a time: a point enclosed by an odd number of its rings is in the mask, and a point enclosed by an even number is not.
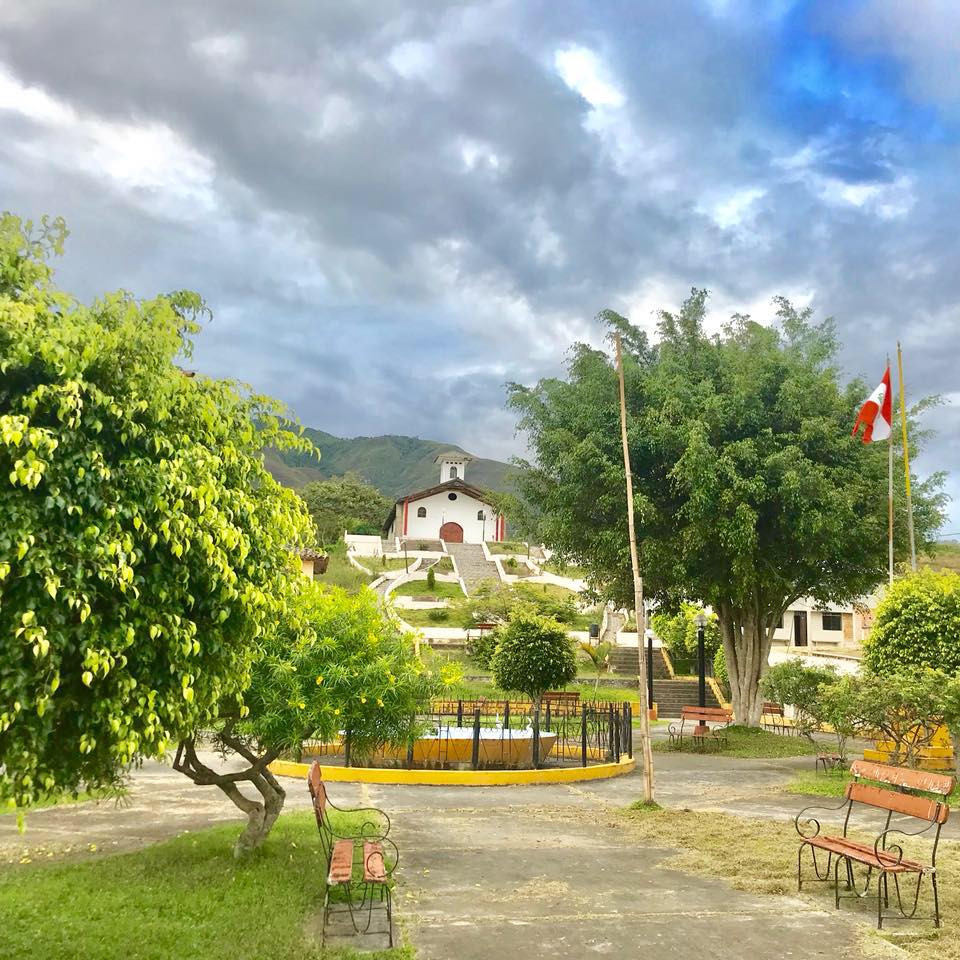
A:
[[[863,644],[872,673],[930,667],[960,674],[960,575],[923,570],[894,582]]]

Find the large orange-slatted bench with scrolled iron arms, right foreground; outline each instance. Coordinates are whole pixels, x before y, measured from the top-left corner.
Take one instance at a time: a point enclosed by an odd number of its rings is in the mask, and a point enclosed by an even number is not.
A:
[[[933,922],[940,926],[940,900],[937,893],[937,845],[940,842],[940,830],[950,815],[946,798],[953,792],[956,781],[953,777],[939,773],[927,773],[923,770],[908,770],[904,767],[890,767],[882,763],[869,763],[856,760],[850,767],[853,780],[847,785],[846,799],[838,807],[810,806],[801,810],[794,820],[794,826],[800,835],[800,848],[797,851],[797,889],[803,884],[803,852],[810,851],[815,878],[828,882],[833,873],[834,904],[840,908],[840,901],[854,897],[864,899],[870,896],[870,881],[877,875],[877,928],[883,927],[884,920],[911,920],[916,917],[920,902],[920,888],[924,877],[930,878],[933,888]],[[872,781],[864,783],[863,781]],[[924,796],[923,794],[927,794]],[[931,798],[929,795],[933,794]],[[863,843],[850,838],[850,814],[854,804],[873,808],[886,814],[883,829],[873,843]],[[809,815],[812,810],[846,810],[843,830],[840,834],[822,834],[820,821]],[[891,827],[894,814],[920,822],[925,826],[918,830],[903,830],[899,826]],[[899,823],[900,821],[898,821]],[[929,831],[933,831],[932,835]],[[924,862],[920,854],[908,858],[902,842],[889,843],[891,834],[902,837],[920,837],[926,835],[933,840],[929,862]],[[818,860],[817,853],[821,856]],[[823,864],[823,854],[826,864]],[[854,877],[854,864],[866,867],[866,879],[862,890],[858,888]],[[852,893],[841,897],[840,871],[844,873],[844,887]],[[899,916],[884,913],[890,907],[890,877],[893,877],[896,905]],[[900,878],[903,877],[908,889],[901,890]],[[916,878],[916,886],[909,890],[907,878]],[[904,901],[906,894],[906,902]],[[912,904],[910,903],[912,897]]]

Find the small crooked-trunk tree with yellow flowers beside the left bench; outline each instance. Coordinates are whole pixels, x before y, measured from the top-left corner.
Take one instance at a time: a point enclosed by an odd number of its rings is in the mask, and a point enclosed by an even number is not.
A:
[[[217,741],[247,762],[239,772],[216,771],[194,738],[178,751],[176,768],[199,784],[218,786],[247,815],[236,852],[260,846],[279,816],[285,791],[267,765],[296,755],[305,740],[335,743],[349,734],[354,757],[384,743],[406,743],[414,716],[456,666],[424,666],[411,638],[369,590],[348,594],[303,580],[293,585],[286,615],[267,633],[244,693],[244,709],[224,705]],[[252,787],[259,798],[244,793]]]

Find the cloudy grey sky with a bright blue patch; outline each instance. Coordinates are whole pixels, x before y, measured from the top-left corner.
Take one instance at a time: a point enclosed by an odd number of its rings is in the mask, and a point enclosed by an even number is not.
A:
[[[193,366],[340,436],[522,454],[506,381],[697,286],[833,316],[871,385],[899,338],[953,471],[958,57],[954,0],[3,0],[0,206],[67,219],[83,299],[202,293]]]

